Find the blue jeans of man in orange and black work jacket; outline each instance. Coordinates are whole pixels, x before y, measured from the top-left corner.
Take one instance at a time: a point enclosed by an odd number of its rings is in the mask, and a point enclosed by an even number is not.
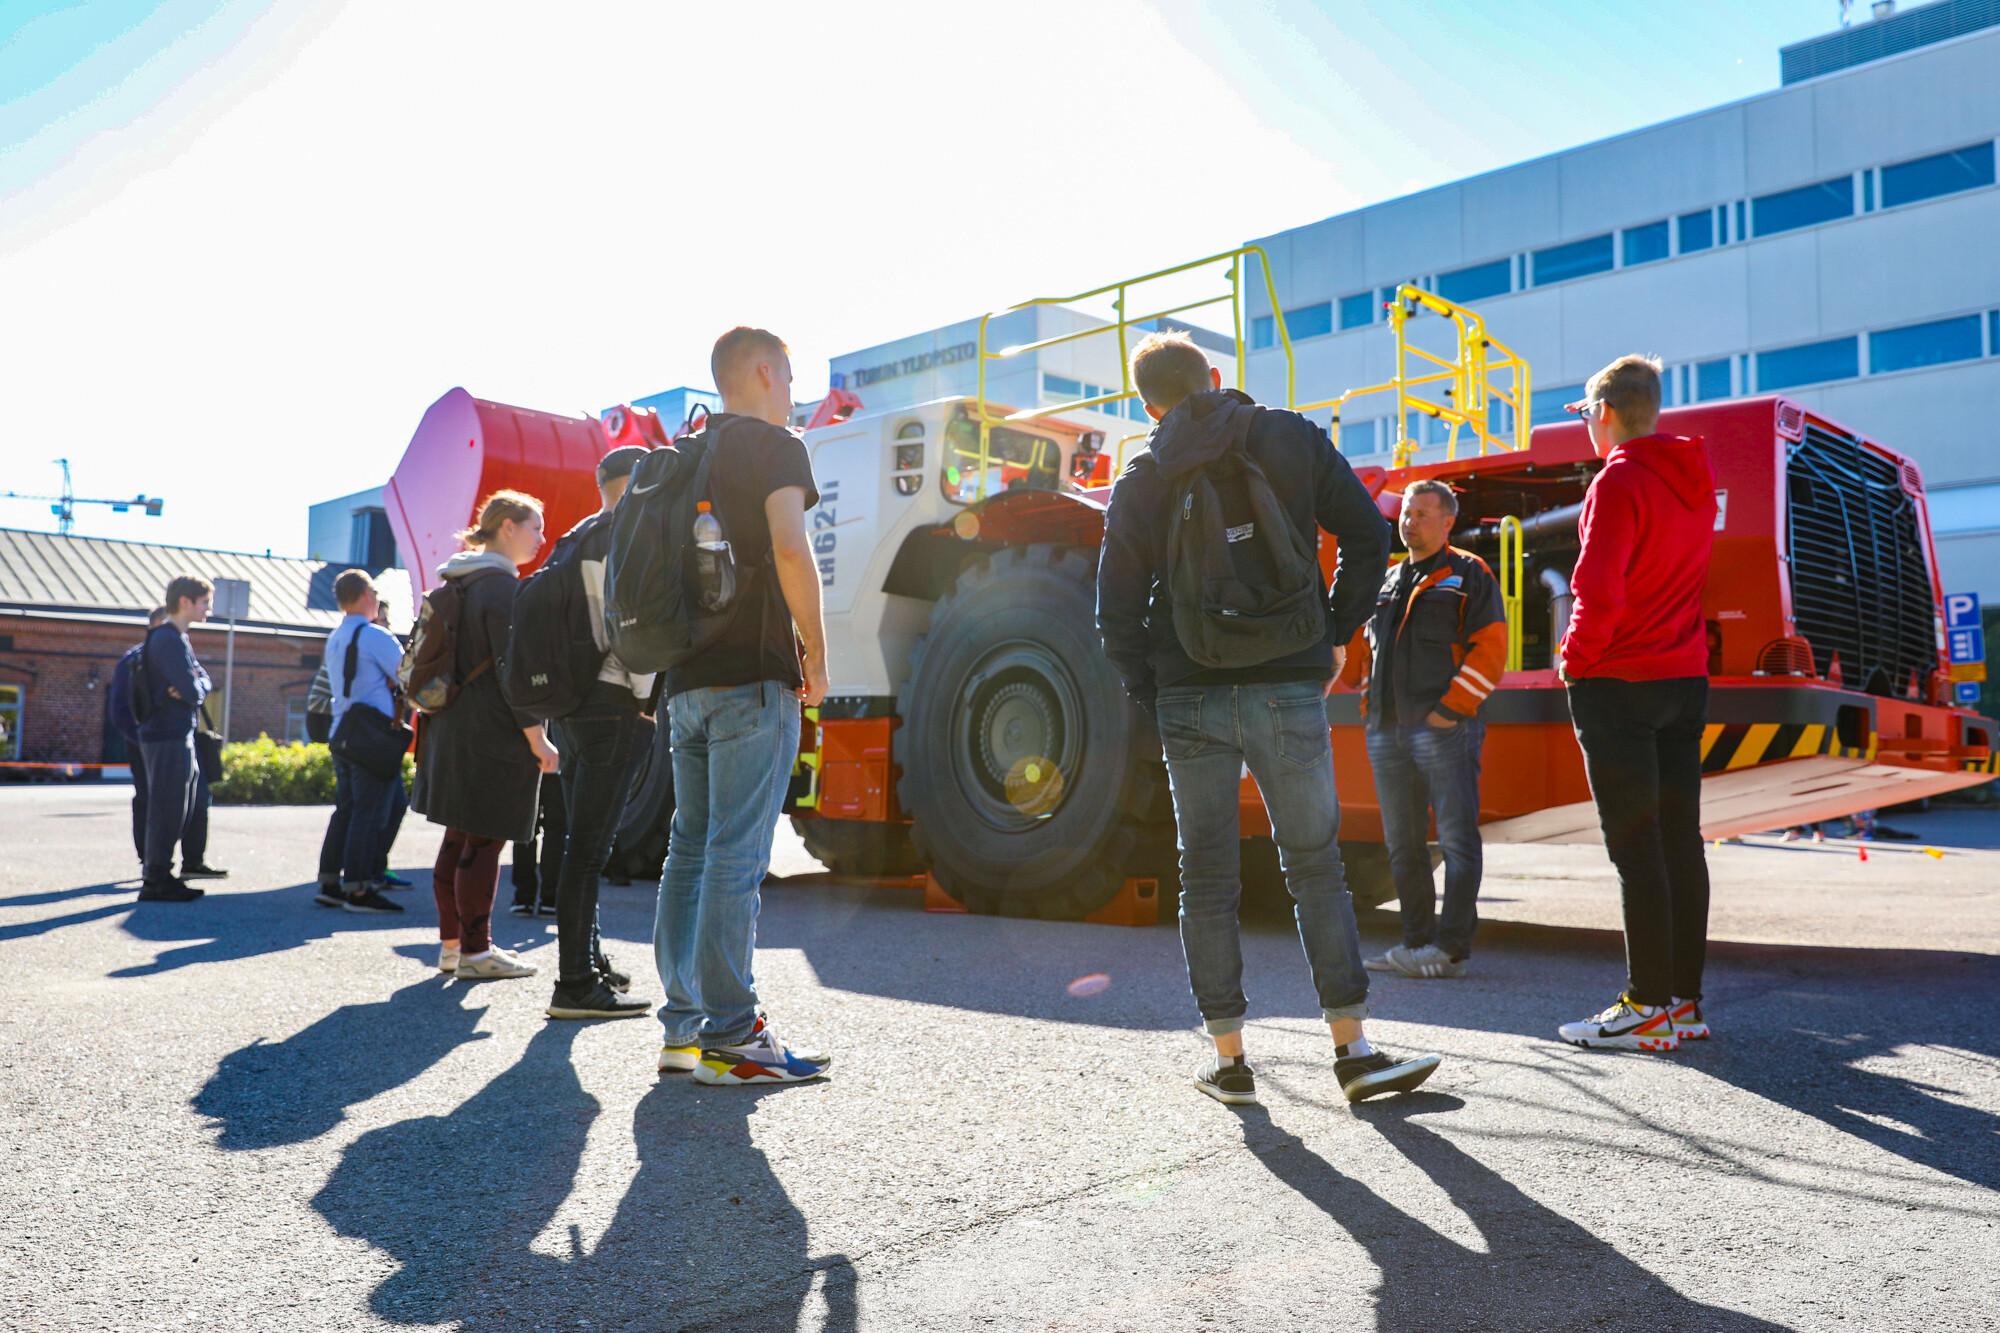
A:
[[[1382,841],[1388,871],[1402,903],[1402,943],[1410,949],[1438,945],[1454,959],[1472,957],[1472,931],[1480,925],[1480,749],[1486,723],[1456,727],[1370,727],[1368,765],[1382,803]],[[1430,813],[1438,815],[1444,849],[1444,917],[1430,877]]]

